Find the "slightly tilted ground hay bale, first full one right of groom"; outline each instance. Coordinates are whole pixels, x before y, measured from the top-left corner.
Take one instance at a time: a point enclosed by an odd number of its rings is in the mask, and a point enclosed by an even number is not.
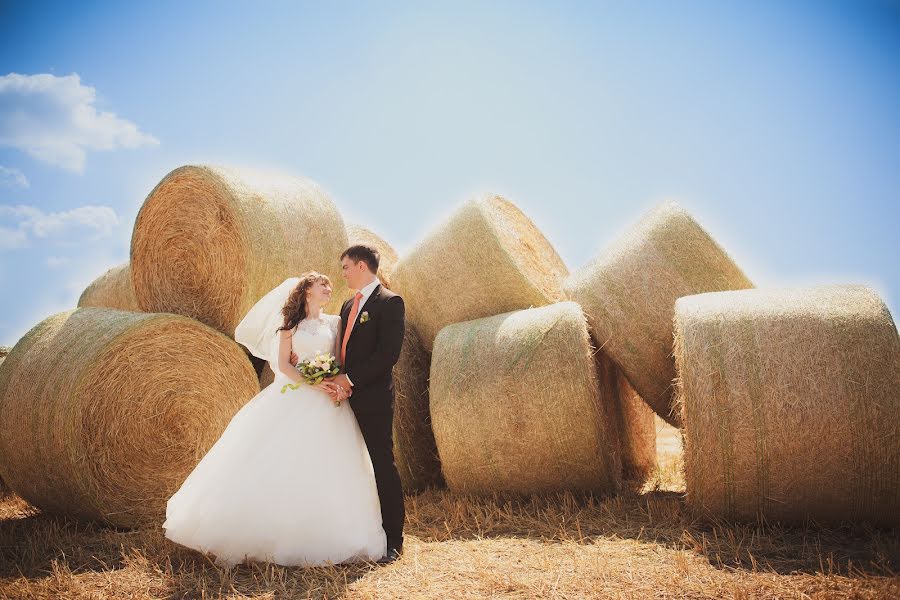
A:
[[[443,328],[431,421],[450,488],[618,491],[615,389],[601,388],[593,353],[574,302]]]

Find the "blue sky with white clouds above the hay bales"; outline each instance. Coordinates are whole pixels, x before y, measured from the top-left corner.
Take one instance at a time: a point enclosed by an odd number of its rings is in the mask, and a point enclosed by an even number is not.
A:
[[[898,107],[888,1],[0,2],[0,344],[196,162],[311,177],[401,254],[500,192],[570,269],[671,198],[757,285],[896,320]]]

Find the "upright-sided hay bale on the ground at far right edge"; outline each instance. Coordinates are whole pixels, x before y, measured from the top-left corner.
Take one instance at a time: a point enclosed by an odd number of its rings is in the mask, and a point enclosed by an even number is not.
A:
[[[688,505],[900,524],[900,338],[864,286],[675,304]]]

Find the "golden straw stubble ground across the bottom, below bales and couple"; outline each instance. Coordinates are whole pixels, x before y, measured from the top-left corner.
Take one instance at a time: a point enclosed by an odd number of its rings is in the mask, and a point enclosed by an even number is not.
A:
[[[671,428],[669,428],[671,429]],[[665,457],[660,456],[664,461]],[[406,498],[404,556],[387,567],[217,568],[159,528],[114,530],[0,501],[0,597],[817,598],[900,596],[900,540],[863,527],[697,522],[678,494]]]

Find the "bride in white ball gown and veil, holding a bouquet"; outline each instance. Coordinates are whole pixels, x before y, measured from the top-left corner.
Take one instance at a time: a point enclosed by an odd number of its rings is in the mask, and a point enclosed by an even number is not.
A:
[[[331,281],[286,280],[250,310],[235,339],[275,381],[245,404],[166,505],[165,536],[231,567],[317,566],[386,551],[372,463],[343,389],[308,385],[291,364],[339,356],[341,318],[322,312]],[[280,309],[280,310],[279,310]],[[301,382],[298,389],[286,384]]]

